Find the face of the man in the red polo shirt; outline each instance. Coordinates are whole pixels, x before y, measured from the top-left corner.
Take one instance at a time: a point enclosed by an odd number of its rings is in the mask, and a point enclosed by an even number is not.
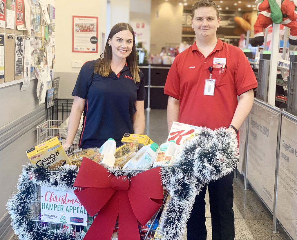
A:
[[[216,36],[220,20],[221,18],[217,18],[217,12],[213,7],[197,8],[192,19],[192,28],[196,38]]]

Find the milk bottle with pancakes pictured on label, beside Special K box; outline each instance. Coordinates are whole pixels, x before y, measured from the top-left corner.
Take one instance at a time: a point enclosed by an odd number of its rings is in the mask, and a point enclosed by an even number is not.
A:
[[[161,166],[162,164],[170,165],[178,152],[178,145],[175,141],[170,140],[169,142],[162,143],[157,154],[157,158],[153,164],[154,167]]]

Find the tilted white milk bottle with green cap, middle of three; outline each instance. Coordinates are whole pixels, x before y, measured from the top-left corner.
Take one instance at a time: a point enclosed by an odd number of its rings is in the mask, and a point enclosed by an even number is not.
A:
[[[159,146],[153,142],[150,145],[142,147],[138,153],[131,158],[123,167],[123,169],[144,169],[151,167],[157,157]]]

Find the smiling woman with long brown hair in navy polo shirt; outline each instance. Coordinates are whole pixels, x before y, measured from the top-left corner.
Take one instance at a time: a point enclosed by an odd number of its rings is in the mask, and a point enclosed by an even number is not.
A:
[[[82,148],[100,147],[108,138],[119,146],[124,133],[143,134],[144,76],[137,66],[134,31],[129,24],[113,26],[104,58],[82,66],[72,96],[64,149],[72,144],[82,113]]]

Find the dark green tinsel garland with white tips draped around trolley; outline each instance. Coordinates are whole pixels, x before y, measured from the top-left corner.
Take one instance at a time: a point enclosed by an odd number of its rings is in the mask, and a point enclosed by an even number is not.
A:
[[[159,225],[162,240],[181,239],[193,207],[195,196],[209,181],[219,179],[235,168],[238,162],[236,136],[221,128],[212,131],[203,128],[200,134],[188,140],[172,166],[161,166],[162,182],[170,193]],[[116,176],[135,176],[137,171],[108,168]],[[18,192],[7,203],[12,228],[20,240],[82,240],[69,232],[54,230],[33,221],[32,205],[37,187],[56,190],[75,190],[73,187],[78,169],[75,165],[45,169],[28,164],[23,166],[18,181]]]

